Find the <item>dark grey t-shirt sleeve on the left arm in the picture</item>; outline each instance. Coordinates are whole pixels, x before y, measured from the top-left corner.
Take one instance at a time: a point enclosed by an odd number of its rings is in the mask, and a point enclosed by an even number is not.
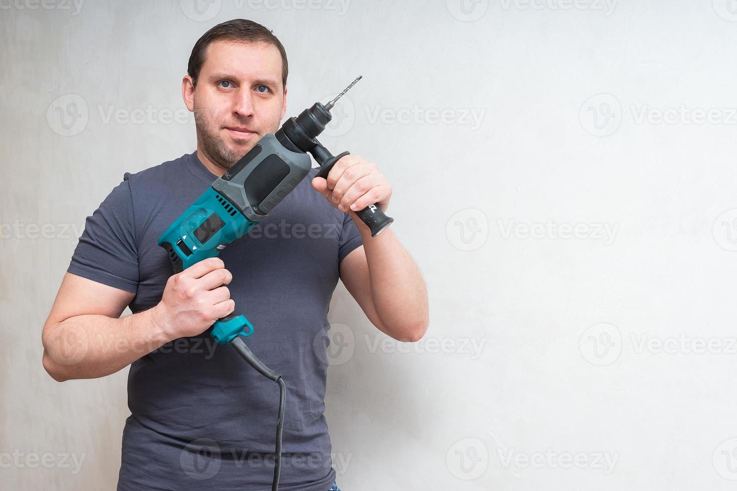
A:
[[[130,174],[126,172],[122,183],[87,217],[67,272],[136,292],[138,247],[128,177]]]

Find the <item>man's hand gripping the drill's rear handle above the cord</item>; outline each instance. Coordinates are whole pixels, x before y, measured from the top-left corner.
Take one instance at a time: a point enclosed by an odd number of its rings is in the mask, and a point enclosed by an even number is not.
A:
[[[169,339],[197,336],[235,310],[225,286],[233,275],[220,258],[208,258],[167,280],[153,319]]]

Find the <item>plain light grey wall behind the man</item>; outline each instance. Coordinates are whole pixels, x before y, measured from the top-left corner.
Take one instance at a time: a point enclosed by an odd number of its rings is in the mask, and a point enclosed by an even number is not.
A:
[[[321,140],[427,279],[416,344],[335,294],[344,491],[734,489],[736,1],[195,1],[0,0],[3,490],[116,483],[127,370],[57,384],[41,326],[85,216],[195,149],[181,77],[234,17],[288,116],[363,74]]]

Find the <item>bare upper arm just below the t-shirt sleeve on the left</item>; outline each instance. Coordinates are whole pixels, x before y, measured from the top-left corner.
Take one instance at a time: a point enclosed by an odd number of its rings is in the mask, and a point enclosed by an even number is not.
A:
[[[44,334],[59,322],[79,315],[99,314],[117,319],[135,296],[134,292],[68,272],[61,281],[49,318],[43,326]]]

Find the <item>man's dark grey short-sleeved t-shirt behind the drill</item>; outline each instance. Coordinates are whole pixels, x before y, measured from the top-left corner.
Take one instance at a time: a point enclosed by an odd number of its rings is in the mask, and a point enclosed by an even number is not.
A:
[[[326,491],[335,480],[324,417],[327,311],[338,265],[362,244],[347,213],[312,188],[316,169],[220,253],[236,311],[254,325],[245,343],[287,386],[279,489]],[[68,271],[136,297],[161,300],[173,274],[156,243],[212,184],[196,152],[124,180],[87,218]],[[134,361],[118,490],[266,490],[273,477],[279,387],[208,333]]]

